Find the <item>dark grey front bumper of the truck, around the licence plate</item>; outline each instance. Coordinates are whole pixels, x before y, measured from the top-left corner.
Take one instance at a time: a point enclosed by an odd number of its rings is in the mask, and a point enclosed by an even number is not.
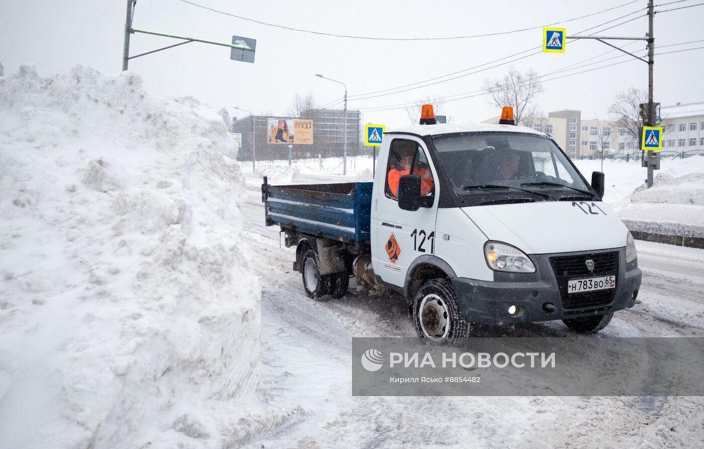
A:
[[[617,270],[610,273],[595,272],[586,275],[560,276],[551,264],[551,258],[584,256],[590,258],[599,253],[617,252]],[[641,288],[642,273],[638,261],[626,263],[625,248],[580,253],[531,255],[536,272],[512,274],[495,272],[494,282],[456,278],[453,286],[460,310],[467,322],[497,324],[567,320],[589,317],[631,308]],[[575,296],[565,293],[567,279],[600,277],[616,274],[616,288],[601,293],[583,293]],[[610,295],[609,293],[613,294]],[[591,295],[591,296],[590,296]],[[596,298],[596,299],[595,299]],[[508,309],[515,305],[517,312],[510,315]]]

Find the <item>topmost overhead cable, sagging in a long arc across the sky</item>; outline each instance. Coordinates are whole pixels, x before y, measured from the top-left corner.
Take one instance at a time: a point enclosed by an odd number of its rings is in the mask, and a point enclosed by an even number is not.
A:
[[[545,24],[545,25],[538,25],[538,26],[535,26],[535,27],[528,27],[528,28],[521,28],[521,29],[519,29],[519,30],[501,31],[501,32],[486,33],[486,34],[469,34],[469,35],[466,35],[466,36],[452,36],[452,37],[371,37],[371,36],[354,36],[354,35],[351,35],[351,34],[334,34],[334,33],[320,32],[320,31],[313,31],[313,30],[302,30],[301,28],[287,27],[287,26],[284,26],[284,25],[277,25],[277,24],[275,24],[275,23],[267,23],[267,22],[263,22],[263,21],[261,21],[261,20],[256,20],[256,19],[253,19],[253,18],[244,17],[244,16],[242,16],[242,15],[227,13],[226,11],[220,11],[219,9],[210,8],[210,6],[205,6],[205,5],[197,4],[196,2],[190,1],[190,0],[178,0],[178,1],[181,1],[182,3],[189,4],[189,5],[192,5],[192,6],[196,6],[196,7],[198,7],[198,8],[206,9],[206,10],[208,10],[208,11],[212,11],[213,13],[218,13],[218,14],[222,14],[222,15],[229,15],[230,17],[238,18],[238,19],[240,19],[240,20],[246,20],[246,21],[248,21],[248,22],[258,23],[259,25],[265,25],[265,26],[267,26],[267,27],[276,27],[276,28],[281,28],[282,30],[289,30],[289,31],[295,31],[295,32],[304,32],[304,33],[308,33],[308,34],[318,34],[318,35],[320,35],[320,36],[344,37],[344,38],[347,38],[347,39],[367,39],[367,40],[375,40],[375,41],[446,41],[446,40],[453,40],[453,39],[471,39],[471,38],[474,38],[474,37],[501,36],[501,35],[503,35],[503,34],[512,34],[512,33],[515,33],[515,32],[523,32],[523,31],[529,31],[529,30],[537,30],[537,29],[539,29],[539,28],[549,27],[549,26],[551,26],[551,25],[560,25],[561,23],[568,23],[568,22],[572,22],[572,21],[574,21],[574,20],[579,20],[579,19],[591,17],[591,16],[593,16],[593,15],[598,15],[598,14],[601,14],[601,13],[605,13],[605,12],[608,12],[608,11],[612,11],[612,10],[614,10],[614,9],[622,8],[623,6],[627,6],[627,5],[629,5],[629,4],[634,4],[634,3],[636,3],[636,1],[639,1],[639,0],[627,1],[627,2],[624,3],[624,4],[620,4],[620,5],[618,5],[618,6],[612,6],[611,8],[606,8],[606,9],[604,9],[604,10],[602,10],[602,11],[597,11],[596,13],[590,13],[590,14],[586,14],[586,15],[581,15],[581,16],[579,16],[579,17],[574,17],[574,18],[567,19],[567,20],[560,20],[560,21],[558,21],[558,22],[548,23],[548,24]]]

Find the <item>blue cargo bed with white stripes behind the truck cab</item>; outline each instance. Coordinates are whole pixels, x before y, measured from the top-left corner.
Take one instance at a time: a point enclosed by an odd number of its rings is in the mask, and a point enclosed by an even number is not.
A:
[[[267,226],[353,244],[368,244],[372,182],[271,186],[264,178]]]

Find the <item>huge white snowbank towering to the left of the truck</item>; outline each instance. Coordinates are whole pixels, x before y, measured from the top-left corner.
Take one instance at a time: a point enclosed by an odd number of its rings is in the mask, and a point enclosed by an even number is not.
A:
[[[260,289],[235,151],[218,113],[132,72],[0,80],[1,446],[236,439]]]

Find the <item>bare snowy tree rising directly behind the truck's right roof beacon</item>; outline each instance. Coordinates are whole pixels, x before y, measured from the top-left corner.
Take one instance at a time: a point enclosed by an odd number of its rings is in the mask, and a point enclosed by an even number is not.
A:
[[[484,80],[482,88],[491,98],[489,103],[499,108],[513,107],[516,125],[520,125],[524,113],[535,108],[535,97],[545,91],[538,78],[538,72],[530,69],[522,73],[513,67],[508,69],[508,73],[499,80]]]

